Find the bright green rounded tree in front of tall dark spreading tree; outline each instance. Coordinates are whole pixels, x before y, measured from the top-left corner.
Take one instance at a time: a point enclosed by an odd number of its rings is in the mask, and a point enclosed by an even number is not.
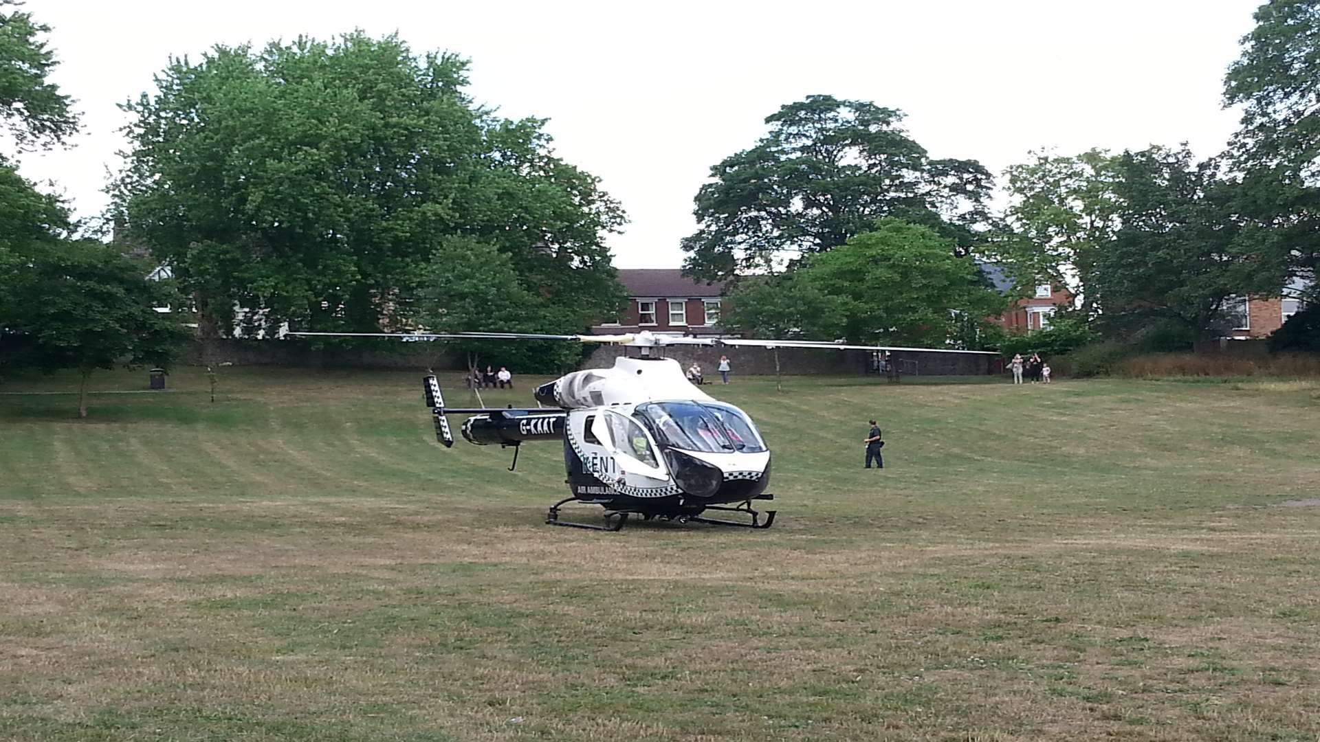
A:
[[[972,257],[953,253],[950,239],[931,227],[882,219],[871,231],[804,259],[787,277],[784,296],[768,279],[751,281],[730,300],[734,317],[754,334],[792,330],[809,339],[854,343],[945,346],[966,335],[966,323],[1003,309]],[[799,297],[809,304],[793,306]],[[803,312],[805,309],[805,312]]]

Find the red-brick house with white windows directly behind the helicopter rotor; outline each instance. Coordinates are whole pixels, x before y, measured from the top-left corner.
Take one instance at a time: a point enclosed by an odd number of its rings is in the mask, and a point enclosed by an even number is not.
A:
[[[682,333],[718,335],[725,301],[723,284],[694,281],[677,268],[620,269],[628,305],[618,322],[591,327],[597,335],[614,333]]]

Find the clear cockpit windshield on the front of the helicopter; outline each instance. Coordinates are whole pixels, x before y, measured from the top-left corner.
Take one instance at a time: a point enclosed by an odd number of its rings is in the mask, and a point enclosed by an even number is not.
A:
[[[638,407],[636,416],[656,442],[705,453],[760,453],[764,441],[741,409],[719,403],[656,401]]]

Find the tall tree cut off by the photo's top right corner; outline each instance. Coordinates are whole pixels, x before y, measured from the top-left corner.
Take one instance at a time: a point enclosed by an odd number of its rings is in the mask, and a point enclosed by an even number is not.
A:
[[[1320,1],[1271,0],[1255,21],[1224,83],[1225,104],[1242,107],[1230,156],[1243,172],[1243,210],[1271,227],[1291,276],[1313,280],[1320,269]]]

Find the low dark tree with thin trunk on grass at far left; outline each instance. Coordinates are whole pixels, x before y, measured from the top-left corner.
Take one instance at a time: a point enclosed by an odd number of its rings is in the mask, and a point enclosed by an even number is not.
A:
[[[51,372],[77,368],[78,416],[87,416],[87,379],[116,363],[165,366],[189,331],[168,305],[166,284],[147,281],[141,265],[95,240],[44,246],[13,261],[0,294],[9,362]]]

